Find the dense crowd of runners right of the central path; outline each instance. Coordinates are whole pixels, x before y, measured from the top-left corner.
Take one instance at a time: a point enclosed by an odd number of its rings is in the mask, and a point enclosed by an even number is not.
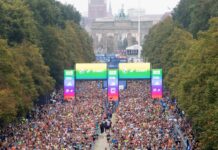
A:
[[[117,121],[112,127],[112,149],[183,149],[175,120],[153,100],[150,85],[145,81],[129,81],[127,90],[120,93]]]

